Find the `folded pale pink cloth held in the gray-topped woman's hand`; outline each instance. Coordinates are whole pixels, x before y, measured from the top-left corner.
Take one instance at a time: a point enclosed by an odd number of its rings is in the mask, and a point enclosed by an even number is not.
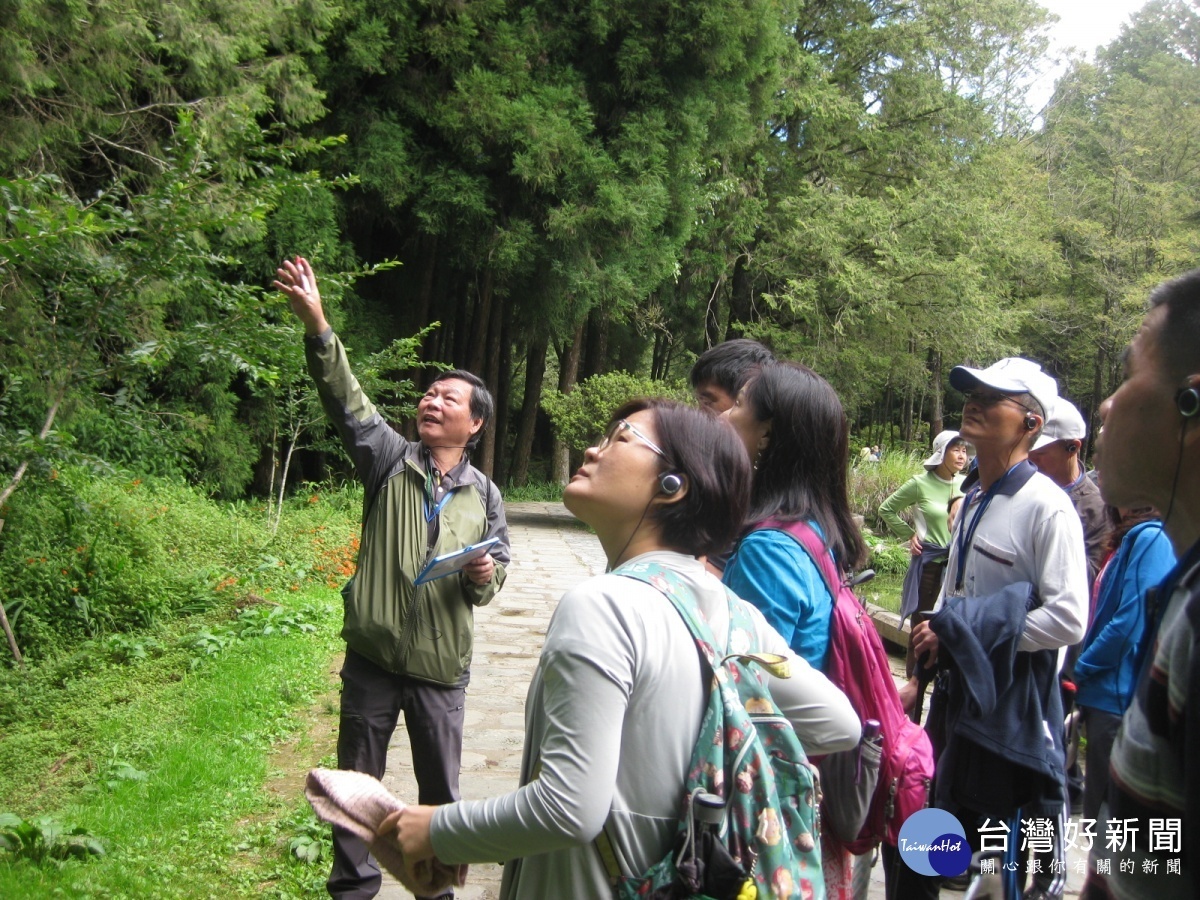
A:
[[[396,876],[418,896],[433,896],[467,881],[466,865],[446,865],[437,859],[404,865],[404,854],[395,835],[379,836],[379,824],[404,803],[377,779],[361,772],[312,769],[305,781],[305,797],[323,822],[340,826],[371,847],[379,865]]]

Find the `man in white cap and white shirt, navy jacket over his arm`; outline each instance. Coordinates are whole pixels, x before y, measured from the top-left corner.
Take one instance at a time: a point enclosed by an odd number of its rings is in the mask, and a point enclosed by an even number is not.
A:
[[[950,384],[966,396],[960,434],[976,448],[979,480],[950,536],[938,611],[912,634],[918,659],[943,670],[932,704],[961,716],[943,720],[944,733],[935,734],[934,805],[959,818],[973,848],[986,829],[989,845],[1002,833],[1015,851],[1022,842],[1016,810],[1063,800],[1057,655],[1086,626],[1084,534],[1067,494],[1028,461],[1058,395],[1055,380],[1036,362],[1009,358],[983,370],[956,366]],[[947,659],[940,660],[943,641]],[[995,653],[972,656],[971,644]],[[979,683],[966,674],[971,664]],[[992,685],[995,712],[968,721],[971,704],[961,697],[983,682]],[[916,700],[914,690],[905,694]],[[1006,706],[1009,697],[1037,706]],[[1031,710],[1040,714],[1031,720]],[[938,878],[890,868],[889,896],[937,896]]]

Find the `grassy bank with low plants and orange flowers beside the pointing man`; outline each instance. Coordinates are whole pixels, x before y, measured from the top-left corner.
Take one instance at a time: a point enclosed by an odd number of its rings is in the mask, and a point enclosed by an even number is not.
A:
[[[300,779],[331,761],[336,588],[353,566],[361,492],[289,500],[272,534],[262,509],[205,508],[180,487],[83,487],[100,499],[72,512],[43,494],[26,508],[65,510],[72,541],[35,557],[40,523],[26,515],[26,533],[12,535],[25,556],[7,558],[50,570],[42,557],[103,545],[107,556],[79,552],[108,592],[91,590],[92,610],[104,598],[132,612],[124,630],[116,616],[92,616],[59,632],[42,614],[41,631],[18,630],[41,638],[28,668],[0,666],[0,896],[322,896],[328,829]],[[100,512],[118,504],[120,516]],[[170,576],[182,560],[190,574]],[[26,595],[25,625],[62,592],[52,578],[29,583],[42,594]],[[152,614],[139,612],[137,584],[158,592]],[[128,628],[138,619],[148,624]],[[71,832],[103,854],[55,859]]]

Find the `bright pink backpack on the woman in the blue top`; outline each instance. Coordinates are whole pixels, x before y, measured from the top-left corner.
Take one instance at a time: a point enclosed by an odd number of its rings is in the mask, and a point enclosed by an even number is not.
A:
[[[883,641],[847,580],[834,569],[824,541],[805,522],[768,522],[763,527],[790,534],[821,571],[834,600],[824,673],[842,690],[859,719],[876,719],[881,725],[880,780],[866,823],[857,840],[844,841],[844,846],[856,854],[869,852],[881,841],[896,846],[900,826],[929,805],[934,780],[929,736],[905,715]]]

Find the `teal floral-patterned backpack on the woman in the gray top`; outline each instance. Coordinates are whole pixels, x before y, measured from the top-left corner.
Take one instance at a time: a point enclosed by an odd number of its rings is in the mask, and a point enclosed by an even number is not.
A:
[[[696,641],[710,686],[673,850],[643,875],[629,877],[617,869],[607,835],[596,840],[617,896],[823,900],[816,768],[760,668],[786,678],[786,658],[755,653],[754,623],[728,590],[730,640],[719,654],[691,590],[673,571],[634,563],[614,574],[646,582],[671,600]]]

